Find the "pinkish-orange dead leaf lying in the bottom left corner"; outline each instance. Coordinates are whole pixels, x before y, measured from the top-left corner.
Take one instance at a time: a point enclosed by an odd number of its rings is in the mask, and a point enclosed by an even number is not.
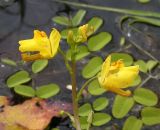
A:
[[[0,113],[0,130],[44,130],[60,111],[70,111],[71,104],[33,98],[23,104],[6,106]]]

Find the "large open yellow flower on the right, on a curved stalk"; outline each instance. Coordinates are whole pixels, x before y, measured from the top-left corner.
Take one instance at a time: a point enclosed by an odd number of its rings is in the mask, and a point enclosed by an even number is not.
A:
[[[139,66],[125,67],[122,60],[118,60],[111,64],[111,56],[109,55],[102,65],[98,81],[106,90],[112,91],[122,96],[130,96],[130,90],[123,90],[132,84],[135,77],[139,73]]]

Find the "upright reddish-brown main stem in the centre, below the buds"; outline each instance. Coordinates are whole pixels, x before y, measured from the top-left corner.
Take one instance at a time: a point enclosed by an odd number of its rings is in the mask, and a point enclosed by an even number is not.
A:
[[[71,56],[71,82],[72,82],[72,102],[73,102],[73,113],[74,113],[74,121],[76,130],[81,130],[79,116],[78,116],[78,102],[76,101],[77,98],[77,82],[76,82],[76,62],[75,62],[75,55],[74,53]]]

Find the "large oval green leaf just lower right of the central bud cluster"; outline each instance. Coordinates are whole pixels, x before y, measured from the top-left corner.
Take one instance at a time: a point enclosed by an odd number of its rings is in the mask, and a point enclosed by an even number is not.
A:
[[[112,35],[108,32],[100,32],[99,34],[92,36],[88,40],[88,49],[90,51],[99,51],[105,47],[112,39]]]

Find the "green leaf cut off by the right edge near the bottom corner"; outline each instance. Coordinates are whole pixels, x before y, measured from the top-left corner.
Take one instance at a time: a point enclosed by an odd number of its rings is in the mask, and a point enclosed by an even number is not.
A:
[[[141,111],[142,121],[145,125],[160,124],[160,109],[155,107],[145,107]]]

